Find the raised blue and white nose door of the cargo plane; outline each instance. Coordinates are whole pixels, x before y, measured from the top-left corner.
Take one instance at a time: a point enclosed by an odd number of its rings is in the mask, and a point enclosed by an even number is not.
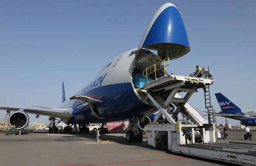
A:
[[[190,51],[187,32],[178,9],[172,3],[161,6],[150,21],[138,50],[157,50],[161,58],[176,59]]]

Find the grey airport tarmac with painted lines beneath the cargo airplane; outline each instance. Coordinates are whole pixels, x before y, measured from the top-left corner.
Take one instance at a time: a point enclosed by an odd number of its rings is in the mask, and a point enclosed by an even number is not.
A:
[[[219,142],[246,142],[244,130],[229,130],[229,136]],[[251,131],[256,136],[256,131]],[[118,141],[125,132],[100,134],[102,140]],[[95,142],[95,132],[89,134],[48,134],[47,132],[22,132],[19,136],[0,134],[1,165],[12,166],[86,166],[86,165],[189,165],[220,166],[227,163],[195,158],[153,149],[147,145],[144,134],[142,143]],[[234,164],[232,164],[234,165]]]

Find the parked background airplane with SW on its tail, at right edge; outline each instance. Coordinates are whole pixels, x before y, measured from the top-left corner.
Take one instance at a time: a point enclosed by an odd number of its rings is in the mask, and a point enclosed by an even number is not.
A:
[[[256,110],[242,110],[221,93],[215,93],[221,112],[216,116],[240,120],[242,125],[256,126]]]

